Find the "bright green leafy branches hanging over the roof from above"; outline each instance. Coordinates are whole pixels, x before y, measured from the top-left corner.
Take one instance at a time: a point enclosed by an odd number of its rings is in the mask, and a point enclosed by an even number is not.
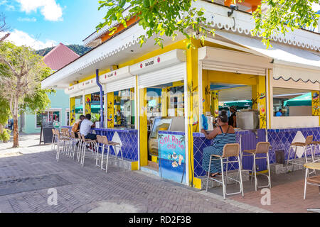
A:
[[[163,47],[162,35],[174,39],[178,33],[182,33],[188,39],[187,45],[190,48],[193,37],[187,29],[199,34],[201,40],[204,40],[208,33],[214,33],[203,16],[206,9],[196,9],[192,6],[194,1],[196,0],[102,0],[99,1],[99,10],[107,7],[107,14],[97,29],[111,26],[114,21],[127,27],[127,21],[135,17],[139,18],[139,25],[146,31],[146,35],[140,37],[141,45],[146,39],[156,35],[156,43]],[[259,6],[253,13],[255,29],[252,30],[252,34],[261,35],[262,42],[269,47],[270,38],[275,33],[286,34],[289,30],[293,31],[301,26],[316,26],[319,15],[312,9],[312,4],[319,4],[319,1],[262,0],[262,4],[267,6],[267,11],[262,13]],[[236,4],[236,1],[233,3]],[[129,14],[124,14],[128,4]],[[117,27],[110,28],[111,34],[115,31]]]

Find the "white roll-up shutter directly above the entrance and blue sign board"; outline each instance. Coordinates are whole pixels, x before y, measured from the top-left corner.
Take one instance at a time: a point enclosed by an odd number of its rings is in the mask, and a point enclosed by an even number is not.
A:
[[[161,84],[169,84],[184,79],[186,74],[186,63],[181,63],[162,70],[156,70],[139,76],[139,87],[153,87]]]

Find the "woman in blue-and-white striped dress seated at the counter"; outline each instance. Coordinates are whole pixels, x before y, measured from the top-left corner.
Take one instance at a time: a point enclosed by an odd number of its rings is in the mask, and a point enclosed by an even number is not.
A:
[[[213,157],[211,167],[209,169],[209,162],[211,155],[223,155],[223,148],[228,143],[237,143],[235,138],[235,130],[233,126],[228,125],[227,111],[222,111],[218,116],[218,127],[210,134],[206,130],[201,130],[201,133],[206,135],[208,140],[213,139],[213,145],[203,149],[202,167],[206,172],[210,172],[210,177],[218,177],[221,175],[220,159]]]

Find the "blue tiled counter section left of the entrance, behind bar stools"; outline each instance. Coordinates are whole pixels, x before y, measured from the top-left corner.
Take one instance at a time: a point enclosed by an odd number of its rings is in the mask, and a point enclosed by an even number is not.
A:
[[[134,162],[138,161],[138,131],[135,129],[117,129],[117,128],[93,128],[97,135],[105,135],[112,141],[116,133],[122,142],[123,157]],[[111,153],[114,154],[113,148]],[[121,156],[120,153],[118,156]]]

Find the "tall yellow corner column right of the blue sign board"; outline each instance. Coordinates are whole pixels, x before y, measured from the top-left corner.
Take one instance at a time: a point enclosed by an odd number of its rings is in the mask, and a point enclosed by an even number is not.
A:
[[[198,182],[194,179],[193,158],[193,132],[199,130],[199,95],[198,95],[198,48],[201,47],[199,40],[192,40],[194,48],[187,50],[187,84],[188,84],[188,169],[189,184],[195,187]],[[202,101],[202,100],[201,100]]]

